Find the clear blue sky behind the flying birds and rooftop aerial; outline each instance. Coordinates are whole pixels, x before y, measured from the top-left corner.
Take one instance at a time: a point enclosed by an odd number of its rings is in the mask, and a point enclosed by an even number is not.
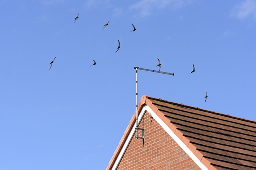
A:
[[[1,170],[105,169],[133,67],[157,58],[175,76],[139,70],[139,99],[256,120],[255,0],[0,0],[0,16]]]

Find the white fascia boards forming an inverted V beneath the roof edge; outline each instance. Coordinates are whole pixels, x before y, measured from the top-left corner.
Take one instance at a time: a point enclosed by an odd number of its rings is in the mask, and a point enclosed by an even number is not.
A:
[[[162,126],[162,128],[171,136],[171,138],[188,154],[188,156],[201,168],[202,170],[208,170],[208,168],[195,156],[195,154],[172,132],[172,130],[156,115],[155,112],[148,106],[144,105],[138,114],[138,126],[140,124],[140,121],[142,120],[145,112],[148,112],[155,120]],[[132,130],[130,131],[128,137],[126,138],[126,141],[124,142],[124,145],[119,152],[114,165],[112,166],[111,170],[116,170],[118,167],[120,161],[122,160],[122,157],[124,156],[124,152],[128,148],[128,145],[130,144],[130,141],[132,140],[132,137],[134,136],[134,133],[136,132],[136,122],[134,123]]]

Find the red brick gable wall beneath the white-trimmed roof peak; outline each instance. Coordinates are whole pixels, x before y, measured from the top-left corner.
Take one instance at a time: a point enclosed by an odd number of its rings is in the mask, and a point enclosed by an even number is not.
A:
[[[201,170],[148,112],[139,128],[144,128],[144,147],[134,134],[117,170]]]

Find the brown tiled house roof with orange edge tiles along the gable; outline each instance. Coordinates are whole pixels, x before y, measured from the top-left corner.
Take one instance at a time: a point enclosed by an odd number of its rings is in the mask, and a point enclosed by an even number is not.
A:
[[[147,111],[154,112],[160,118],[164,126],[168,126],[168,130],[179,138],[182,145],[186,145],[206,169],[256,170],[255,121],[142,96],[139,112],[145,106]],[[107,170],[112,169],[121,150],[125,150],[124,142],[135,120],[134,113]]]

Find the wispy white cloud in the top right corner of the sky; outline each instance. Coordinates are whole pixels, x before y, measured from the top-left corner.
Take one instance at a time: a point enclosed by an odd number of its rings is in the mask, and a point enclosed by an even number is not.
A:
[[[232,9],[230,16],[234,16],[240,20],[251,17],[256,19],[256,1],[244,0],[242,3],[237,4]]]

